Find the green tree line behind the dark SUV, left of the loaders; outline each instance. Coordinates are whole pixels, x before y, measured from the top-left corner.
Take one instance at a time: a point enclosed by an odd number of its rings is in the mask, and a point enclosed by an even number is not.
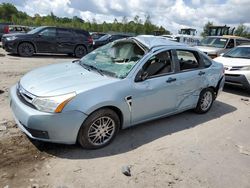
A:
[[[112,31],[133,34],[154,34],[155,31],[160,31],[162,34],[170,34],[164,27],[154,25],[149,15],[146,16],[145,21],[142,21],[139,16],[135,16],[133,20],[128,20],[128,18],[124,16],[121,22],[115,18],[112,23],[105,21],[103,23],[97,23],[95,19],[83,20],[78,16],[74,16],[73,18],[57,17],[53,12],[47,16],[40,16],[39,14],[29,16],[25,12],[18,11],[17,8],[10,3],[0,4],[0,22],[11,22],[17,25],[35,27],[43,25],[73,27],[96,32]]]

